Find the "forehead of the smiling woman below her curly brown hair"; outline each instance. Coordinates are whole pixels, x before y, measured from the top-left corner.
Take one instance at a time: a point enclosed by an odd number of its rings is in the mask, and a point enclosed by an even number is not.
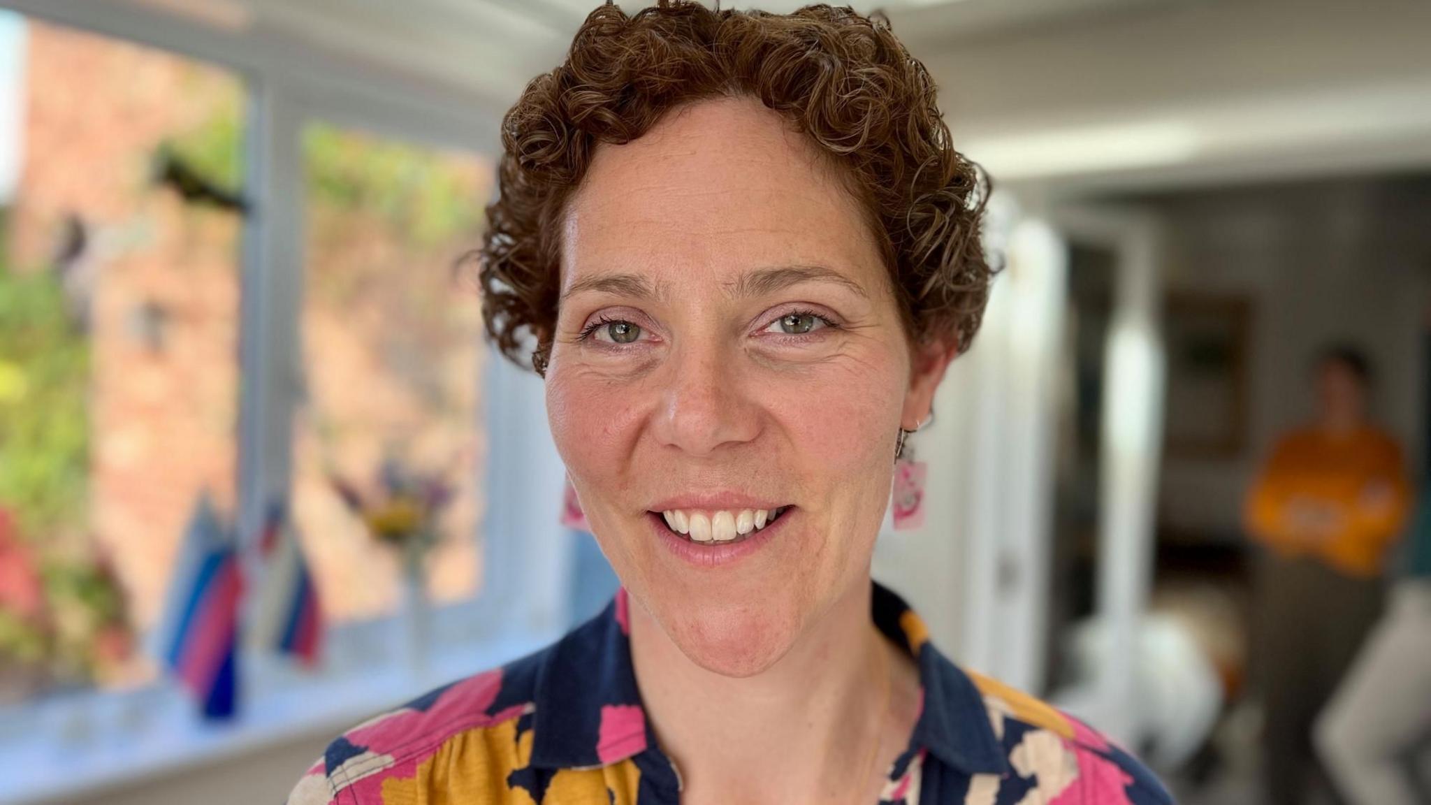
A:
[[[685,106],[637,140],[598,146],[568,203],[561,252],[564,286],[590,271],[677,282],[796,264],[883,278],[849,189],[803,135],[748,97]]]

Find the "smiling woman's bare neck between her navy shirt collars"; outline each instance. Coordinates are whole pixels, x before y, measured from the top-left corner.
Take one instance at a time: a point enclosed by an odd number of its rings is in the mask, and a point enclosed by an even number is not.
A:
[[[631,657],[683,802],[846,802],[884,732],[893,663],[870,620],[870,584],[850,590],[771,667],[711,673],[633,602]],[[880,752],[883,758],[886,752]]]

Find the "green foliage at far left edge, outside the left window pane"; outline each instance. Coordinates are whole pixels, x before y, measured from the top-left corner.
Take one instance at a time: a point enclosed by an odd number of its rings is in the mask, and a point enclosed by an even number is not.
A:
[[[43,600],[24,613],[0,596],[0,669],[84,683],[129,646],[123,594],[86,531],[90,342],[56,274],[13,271],[4,254],[0,244],[0,517],[20,544],[0,547],[33,564],[11,580],[37,576]]]

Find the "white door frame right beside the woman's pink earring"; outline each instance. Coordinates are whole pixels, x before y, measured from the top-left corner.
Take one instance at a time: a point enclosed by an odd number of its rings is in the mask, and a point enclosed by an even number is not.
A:
[[[1056,361],[1066,249],[1012,196],[990,201],[986,248],[1003,264],[973,348],[950,368],[937,411],[947,501],[930,504],[949,544],[940,572],[957,599],[946,645],[970,669],[1015,688],[1043,685]],[[934,477],[933,467],[930,477]],[[950,570],[962,583],[950,584]]]

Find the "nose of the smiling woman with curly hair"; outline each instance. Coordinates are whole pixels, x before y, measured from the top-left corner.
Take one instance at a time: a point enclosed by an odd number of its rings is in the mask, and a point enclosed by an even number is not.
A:
[[[718,350],[691,348],[673,355],[654,425],[663,445],[710,455],[756,438],[760,407],[736,364]]]

